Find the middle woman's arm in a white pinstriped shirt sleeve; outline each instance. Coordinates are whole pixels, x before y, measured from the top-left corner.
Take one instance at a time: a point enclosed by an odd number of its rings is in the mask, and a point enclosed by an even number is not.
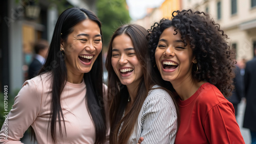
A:
[[[140,137],[144,139],[141,143],[174,143],[177,113],[169,94],[157,93],[147,102],[143,107],[144,124]]]

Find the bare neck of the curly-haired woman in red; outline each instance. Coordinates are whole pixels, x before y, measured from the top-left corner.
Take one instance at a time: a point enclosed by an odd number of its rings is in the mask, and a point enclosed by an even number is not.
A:
[[[175,91],[178,93],[180,99],[184,101],[190,98],[204,83],[204,81],[198,82],[197,80],[194,80],[192,77],[190,77],[182,81],[172,82],[172,85]]]

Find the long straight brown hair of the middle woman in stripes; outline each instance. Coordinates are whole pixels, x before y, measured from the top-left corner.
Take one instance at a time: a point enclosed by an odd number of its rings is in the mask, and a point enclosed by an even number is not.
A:
[[[131,110],[127,112],[127,114],[125,114],[123,117],[122,115],[127,105],[129,94],[127,87],[120,83],[111,64],[113,40],[115,37],[122,34],[125,34],[131,38],[134,45],[136,56],[139,62],[141,63],[141,69],[143,73],[143,76],[138,87],[136,100],[132,105]],[[133,132],[133,128],[134,125],[136,124],[143,102],[147,97],[149,87],[151,84],[151,78],[150,75],[147,74],[150,72],[147,72],[146,70],[146,68],[150,66],[149,63],[147,62],[149,56],[147,54],[146,35],[146,29],[139,25],[124,25],[118,28],[111,38],[108,56],[106,57],[106,69],[109,72],[108,98],[110,99],[110,143],[127,142],[127,140],[129,139],[130,135]]]

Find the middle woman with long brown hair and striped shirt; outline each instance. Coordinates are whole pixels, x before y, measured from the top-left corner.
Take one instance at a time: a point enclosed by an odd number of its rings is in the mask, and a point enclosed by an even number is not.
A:
[[[110,143],[174,143],[176,105],[162,80],[152,76],[146,29],[124,25],[112,36],[109,72]]]

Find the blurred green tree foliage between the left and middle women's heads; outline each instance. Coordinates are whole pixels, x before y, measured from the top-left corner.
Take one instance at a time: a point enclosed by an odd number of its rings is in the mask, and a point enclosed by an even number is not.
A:
[[[115,30],[130,22],[125,0],[97,0],[97,16],[102,22],[103,49],[108,47]]]

